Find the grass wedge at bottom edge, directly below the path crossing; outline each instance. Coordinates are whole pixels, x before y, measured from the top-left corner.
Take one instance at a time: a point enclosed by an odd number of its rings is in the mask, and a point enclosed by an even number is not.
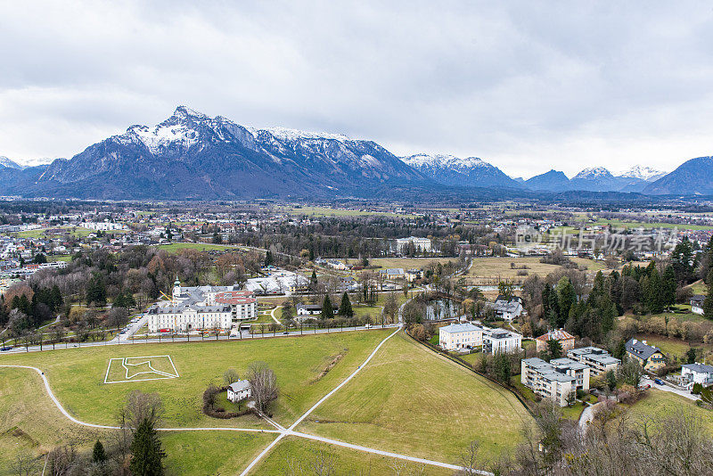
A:
[[[287,438],[277,444],[251,474],[291,474],[289,468],[299,467],[296,474],[315,474],[314,464],[318,458],[331,461],[336,474],[368,474],[370,476],[389,475],[401,470],[401,474],[429,476],[450,475],[452,471],[437,466],[406,463],[387,456],[362,453],[354,449],[332,447],[318,441]],[[358,471],[357,471],[358,470]]]

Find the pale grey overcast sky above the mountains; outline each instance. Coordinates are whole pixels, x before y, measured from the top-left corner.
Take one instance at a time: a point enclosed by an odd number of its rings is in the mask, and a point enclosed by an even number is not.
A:
[[[0,155],[71,157],[178,104],[511,176],[713,153],[709,2],[200,4],[0,0]]]

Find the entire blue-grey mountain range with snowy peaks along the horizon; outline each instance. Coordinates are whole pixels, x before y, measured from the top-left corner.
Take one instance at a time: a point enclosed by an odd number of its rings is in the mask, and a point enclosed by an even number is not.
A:
[[[71,159],[22,166],[0,157],[0,194],[82,199],[216,200],[500,193],[713,194],[713,159],[673,172],[636,166],[619,175],[585,168],[513,179],[477,157],[397,157],[380,144],[283,127],[243,127],[179,106],[156,126],[135,125]],[[478,191],[478,192],[476,192]],[[486,193],[487,195],[487,193]]]

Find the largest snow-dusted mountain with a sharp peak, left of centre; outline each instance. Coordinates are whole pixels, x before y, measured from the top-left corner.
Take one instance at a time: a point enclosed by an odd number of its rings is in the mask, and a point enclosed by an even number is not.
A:
[[[179,106],[70,160],[54,160],[29,193],[92,198],[214,199],[367,193],[427,183],[381,145],[343,135],[255,129]]]

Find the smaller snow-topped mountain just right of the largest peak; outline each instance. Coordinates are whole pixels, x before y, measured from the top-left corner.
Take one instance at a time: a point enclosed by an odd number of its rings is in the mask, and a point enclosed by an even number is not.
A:
[[[419,153],[402,157],[401,160],[443,185],[522,187],[502,170],[477,157],[459,158],[453,155]]]

